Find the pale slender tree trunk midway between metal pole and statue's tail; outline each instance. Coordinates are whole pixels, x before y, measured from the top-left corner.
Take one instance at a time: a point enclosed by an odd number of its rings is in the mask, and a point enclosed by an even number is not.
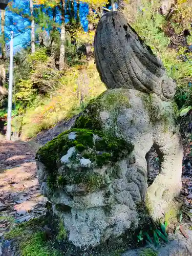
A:
[[[59,70],[65,68],[65,0],[61,0],[61,32],[60,32],[60,57],[59,57]]]

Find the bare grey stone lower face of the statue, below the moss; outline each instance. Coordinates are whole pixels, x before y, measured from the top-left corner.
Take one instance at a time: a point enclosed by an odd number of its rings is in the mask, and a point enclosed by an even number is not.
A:
[[[116,162],[113,167],[93,169],[94,174],[105,175],[105,184],[90,193],[83,184],[67,185],[54,194],[48,193],[55,214],[63,218],[69,240],[76,246],[95,246],[101,240],[138,227],[136,205],[142,200],[138,181],[141,177],[131,167],[134,161],[132,157]],[[63,172],[62,168],[59,172]]]

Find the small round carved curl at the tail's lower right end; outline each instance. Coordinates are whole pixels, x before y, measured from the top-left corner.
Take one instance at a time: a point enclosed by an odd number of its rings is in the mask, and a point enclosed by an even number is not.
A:
[[[162,88],[163,96],[166,99],[171,99],[174,97],[176,93],[176,84],[172,79],[165,76],[162,79],[161,88]]]

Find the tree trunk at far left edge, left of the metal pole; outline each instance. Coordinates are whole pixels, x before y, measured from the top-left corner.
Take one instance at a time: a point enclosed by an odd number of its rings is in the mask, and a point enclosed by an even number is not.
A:
[[[1,30],[2,30],[2,46],[1,46],[1,61],[0,61],[0,95],[6,95],[7,90],[5,88],[5,61],[6,61],[6,48],[5,48],[5,10],[1,10]],[[0,100],[2,97],[0,96]]]

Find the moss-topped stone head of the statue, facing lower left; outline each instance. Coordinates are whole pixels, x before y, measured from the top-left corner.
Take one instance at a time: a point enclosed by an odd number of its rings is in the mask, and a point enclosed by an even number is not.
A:
[[[136,228],[139,221],[140,183],[128,181],[127,175],[133,146],[95,133],[73,129],[37,154],[41,193],[54,204],[54,213],[69,230],[69,240],[79,247],[118,237],[126,229]],[[56,159],[55,168],[50,169],[49,158]]]

